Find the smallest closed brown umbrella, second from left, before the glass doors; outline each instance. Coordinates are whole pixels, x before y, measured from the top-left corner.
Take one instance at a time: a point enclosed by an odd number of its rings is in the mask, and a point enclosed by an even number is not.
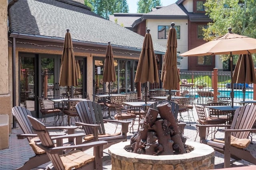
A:
[[[103,82],[108,82],[109,94],[111,92],[110,82],[116,81],[116,70],[114,66],[114,55],[112,51],[112,46],[108,42],[108,47],[106,49],[106,58],[103,68]]]

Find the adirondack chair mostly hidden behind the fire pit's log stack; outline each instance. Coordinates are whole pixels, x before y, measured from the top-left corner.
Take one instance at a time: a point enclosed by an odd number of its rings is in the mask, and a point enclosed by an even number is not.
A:
[[[176,102],[172,102],[170,100],[160,100],[160,101],[156,101],[154,102],[153,104],[151,104],[149,107],[150,108],[153,108],[153,109],[157,109],[157,105],[162,103],[162,102],[168,102],[170,105],[171,105],[171,109],[172,109],[172,113],[174,115],[174,118],[176,119],[176,121],[178,122],[178,113],[179,113],[179,105],[176,103]],[[158,110],[158,109],[157,109]],[[181,133],[183,134],[184,133],[184,128],[186,126],[186,123],[185,122],[178,122],[178,127],[181,131]]]

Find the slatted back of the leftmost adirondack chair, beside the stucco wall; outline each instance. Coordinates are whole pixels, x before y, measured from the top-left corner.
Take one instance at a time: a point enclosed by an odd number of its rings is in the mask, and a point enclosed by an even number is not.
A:
[[[20,128],[22,129],[23,133],[26,134],[34,134],[34,131],[32,130],[31,123],[28,119],[28,115],[31,115],[31,112],[26,109],[25,107],[21,106],[14,106],[12,108],[12,115],[14,115],[15,119],[18,121],[18,124],[20,125]],[[28,141],[34,137],[27,137]]]

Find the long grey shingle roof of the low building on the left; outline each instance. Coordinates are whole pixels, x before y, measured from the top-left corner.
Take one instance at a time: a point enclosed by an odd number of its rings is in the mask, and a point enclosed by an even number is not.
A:
[[[108,44],[142,49],[144,37],[101,18],[88,9],[61,0],[19,0],[11,7],[12,33],[64,39],[70,29],[72,39],[95,44]],[[164,53],[166,47],[154,42],[154,51]],[[158,51],[158,52],[157,52]]]

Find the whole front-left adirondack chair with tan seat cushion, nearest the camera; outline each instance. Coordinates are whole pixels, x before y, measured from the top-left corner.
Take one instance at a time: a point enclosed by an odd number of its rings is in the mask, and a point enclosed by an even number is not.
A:
[[[106,141],[97,141],[82,144],[82,136],[79,133],[71,135],[62,135],[58,137],[50,137],[45,125],[28,115],[28,119],[32,123],[32,128],[37,133],[40,141],[36,141],[36,145],[43,149],[52,161],[46,169],[48,170],[102,170],[103,145]],[[82,135],[85,135],[82,133]],[[55,147],[53,140],[75,138],[76,145]],[[94,148],[94,155],[86,154],[84,150]],[[72,149],[72,151],[60,154],[61,150]],[[74,150],[76,149],[76,150]]]

